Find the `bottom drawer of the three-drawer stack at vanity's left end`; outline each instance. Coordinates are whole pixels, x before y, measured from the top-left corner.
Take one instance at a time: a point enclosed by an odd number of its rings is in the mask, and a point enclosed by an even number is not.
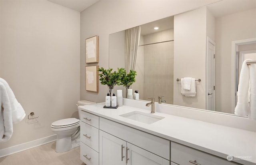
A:
[[[86,165],[99,165],[99,153],[84,143],[80,143],[80,159]]]

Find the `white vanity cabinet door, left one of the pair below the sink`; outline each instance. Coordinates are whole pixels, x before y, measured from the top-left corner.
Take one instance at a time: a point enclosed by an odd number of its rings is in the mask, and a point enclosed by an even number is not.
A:
[[[100,130],[100,165],[126,165],[126,141]]]

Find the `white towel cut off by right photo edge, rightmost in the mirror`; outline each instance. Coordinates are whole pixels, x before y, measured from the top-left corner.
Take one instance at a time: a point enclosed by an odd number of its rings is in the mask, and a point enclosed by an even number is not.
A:
[[[256,64],[250,64],[250,103],[248,117],[256,119]]]

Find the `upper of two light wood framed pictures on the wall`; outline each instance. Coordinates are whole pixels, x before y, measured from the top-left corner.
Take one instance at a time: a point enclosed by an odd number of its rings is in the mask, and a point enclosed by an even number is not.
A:
[[[85,40],[85,63],[99,62],[99,36]]]

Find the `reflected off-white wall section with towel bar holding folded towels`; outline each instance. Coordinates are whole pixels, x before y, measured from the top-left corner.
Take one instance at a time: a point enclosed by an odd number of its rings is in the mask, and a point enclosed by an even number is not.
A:
[[[174,16],[174,105],[205,109],[206,7]],[[192,77],[196,97],[180,93],[181,81]]]

